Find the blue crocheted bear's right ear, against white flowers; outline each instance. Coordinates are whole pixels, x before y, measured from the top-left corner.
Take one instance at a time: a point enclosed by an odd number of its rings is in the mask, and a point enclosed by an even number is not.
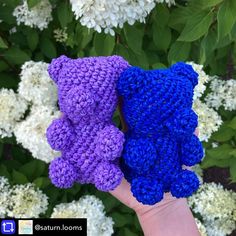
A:
[[[177,62],[171,66],[171,71],[177,75],[184,76],[190,80],[193,88],[198,84],[198,73],[196,73],[193,67],[184,62]]]

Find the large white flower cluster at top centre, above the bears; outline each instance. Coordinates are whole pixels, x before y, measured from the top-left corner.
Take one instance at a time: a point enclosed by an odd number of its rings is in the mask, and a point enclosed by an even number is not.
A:
[[[97,32],[114,35],[114,27],[122,28],[125,22],[145,22],[156,3],[174,4],[174,0],[70,0],[72,11],[82,25]]]

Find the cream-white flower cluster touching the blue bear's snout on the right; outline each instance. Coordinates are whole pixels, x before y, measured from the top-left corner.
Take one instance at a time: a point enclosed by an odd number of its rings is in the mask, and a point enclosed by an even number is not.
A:
[[[208,107],[199,99],[194,101],[193,110],[198,115],[199,139],[208,141],[211,134],[219,129],[222,119],[214,109]]]

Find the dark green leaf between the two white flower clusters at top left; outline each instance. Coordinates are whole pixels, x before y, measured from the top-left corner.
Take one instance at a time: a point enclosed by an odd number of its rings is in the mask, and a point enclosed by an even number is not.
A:
[[[72,21],[73,13],[69,1],[61,1],[59,3],[57,6],[57,17],[62,28],[66,27]]]

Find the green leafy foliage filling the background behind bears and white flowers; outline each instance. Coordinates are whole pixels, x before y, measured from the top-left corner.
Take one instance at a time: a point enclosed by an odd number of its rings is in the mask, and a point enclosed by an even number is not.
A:
[[[204,64],[208,74],[235,77],[230,66],[236,63],[235,0],[177,0],[171,8],[157,4],[145,24],[125,24],[123,29],[115,29],[115,36],[95,33],[82,26],[75,19],[68,0],[51,0],[55,8],[53,21],[47,29],[40,31],[22,24],[17,26],[12,12],[20,2],[0,0],[1,87],[17,88],[20,67],[25,61],[50,62],[62,54],[73,58],[118,54],[130,64],[145,69],[165,68],[177,61],[194,61]],[[39,0],[27,2],[32,8]],[[10,33],[13,27],[16,32]],[[66,30],[68,38],[64,43],[54,38],[55,29]],[[230,167],[231,180],[236,181],[236,113],[221,111],[221,115],[224,125],[204,144],[206,157],[202,167]],[[121,126],[118,111],[113,120]],[[212,142],[217,142],[218,147],[212,148]],[[53,206],[62,201],[95,194],[114,218],[116,235],[142,235],[134,212],[110,194],[98,192],[88,185],[75,185],[69,190],[55,188],[48,179],[48,165],[33,159],[12,139],[0,143],[0,154],[0,175],[15,184],[34,182],[50,197],[46,217],[50,216]]]

